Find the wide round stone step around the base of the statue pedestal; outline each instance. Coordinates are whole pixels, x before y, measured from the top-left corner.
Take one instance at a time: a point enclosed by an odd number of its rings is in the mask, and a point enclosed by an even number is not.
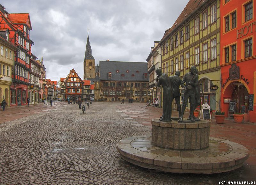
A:
[[[152,145],[149,136],[134,136],[120,140],[117,150],[132,164],[172,173],[227,172],[241,167],[249,157],[243,145],[214,137],[210,137],[205,149],[174,150]]]

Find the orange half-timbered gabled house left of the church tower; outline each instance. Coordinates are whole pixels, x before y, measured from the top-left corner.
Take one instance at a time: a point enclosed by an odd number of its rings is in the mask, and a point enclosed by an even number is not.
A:
[[[84,81],[78,76],[74,68],[70,70],[63,83],[66,86],[66,99],[76,99],[82,96]]]

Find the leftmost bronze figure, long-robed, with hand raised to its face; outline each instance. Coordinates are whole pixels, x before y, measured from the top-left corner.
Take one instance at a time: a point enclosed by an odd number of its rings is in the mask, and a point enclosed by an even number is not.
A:
[[[163,115],[160,121],[171,121],[172,116],[172,89],[171,80],[167,74],[163,73],[160,68],[156,69],[156,83],[163,88]]]

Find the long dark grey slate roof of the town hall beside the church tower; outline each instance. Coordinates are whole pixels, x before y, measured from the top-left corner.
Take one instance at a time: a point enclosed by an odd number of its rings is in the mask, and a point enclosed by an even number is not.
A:
[[[109,72],[112,73],[112,79],[108,79]],[[143,78],[144,73],[148,74],[147,62],[100,61],[100,80],[148,82],[149,77]]]

